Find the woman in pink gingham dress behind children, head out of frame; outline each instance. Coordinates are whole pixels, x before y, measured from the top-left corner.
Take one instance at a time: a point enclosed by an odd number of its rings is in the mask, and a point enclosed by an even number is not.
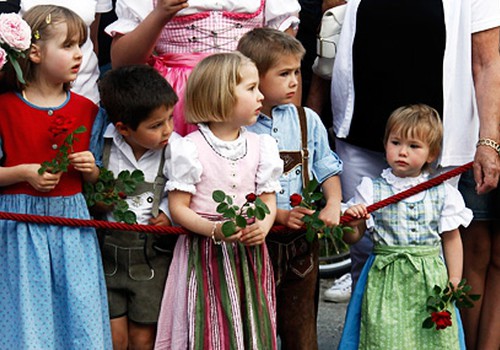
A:
[[[196,129],[183,117],[184,86],[196,63],[234,51],[253,28],[296,28],[299,11],[297,0],[118,0],[118,20],[106,32],[114,67],[148,62],[172,85],[180,98],[174,129],[185,135]]]

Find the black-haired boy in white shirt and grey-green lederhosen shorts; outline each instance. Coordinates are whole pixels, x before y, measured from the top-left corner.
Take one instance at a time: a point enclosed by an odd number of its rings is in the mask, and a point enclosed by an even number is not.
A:
[[[141,170],[145,183],[126,198],[139,224],[170,226],[164,184],[166,145],[174,137],[177,95],[146,65],[109,71],[100,82],[110,124],[104,134],[103,164],[115,176]],[[107,220],[113,221],[111,213]],[[174,236],[110,231],[102,248],[113,347],[153,348]],[[169,254],[170,253],[170,254]]]

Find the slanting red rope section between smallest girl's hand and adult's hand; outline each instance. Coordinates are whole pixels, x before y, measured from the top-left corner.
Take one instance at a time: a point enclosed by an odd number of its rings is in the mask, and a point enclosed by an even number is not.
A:
[[[466,172],[467,170],[472,168],[473,162],[461,165],[459,167],[456,167],[450,171],[447,171],[445,173],[442,173],[441,175],[438,175],[430,180],[427,180],[425,182],[422,182],[421,184],[418,184],[415,187],[409,188],[403,192],[396,193],[393,196],[390,196],[386,199],[383,199],[377,203],[373,203],[372,205],[369,205],[366,207],[366,210],[371,213],[375,210],[378,210],[380,208],[386,207],[390,204],[397,203],[405,198],[411,197],[419,192],[428,190],[431,187],[437,186],[440,183],[443,183],[444,181],[451,179],[452,177],[455,177],[457,175],[460,175],[463,172]],[[340,223],[341,224],[346,224],[350,221],[354,220],[354,218],[351,215],[342,215],[340,217]]]

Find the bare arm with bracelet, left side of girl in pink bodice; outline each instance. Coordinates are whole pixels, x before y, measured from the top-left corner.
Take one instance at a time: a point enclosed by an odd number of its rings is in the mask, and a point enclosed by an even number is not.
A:
[[[198,215],[189,207],[190,202],[191,194],[188,192],[171,191],[168,193],[168,207],[172,221],[202,236],[211,237],[212,232],[214,232],[215,239],[217,240],[234,242],[240,239],[241,231],[234,233],[230,237],[225,237],[221,231],[221,224],[216,224]]]

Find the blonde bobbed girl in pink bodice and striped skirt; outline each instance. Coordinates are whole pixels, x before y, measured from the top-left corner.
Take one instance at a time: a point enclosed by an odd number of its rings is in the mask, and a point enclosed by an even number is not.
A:
[[[157,349],[275,349],[275,296],[265,237],[276,215],[282,161],[269,135],[248,132],[262,108],[255,65],[239,53],[202,60],[189,77],[186,116],[199,130],[172,141],[169,208],[179,237],[165,286]],[[167,158],[168,159],[168,158]],[[229,237],[214,190],[270,209]]]

